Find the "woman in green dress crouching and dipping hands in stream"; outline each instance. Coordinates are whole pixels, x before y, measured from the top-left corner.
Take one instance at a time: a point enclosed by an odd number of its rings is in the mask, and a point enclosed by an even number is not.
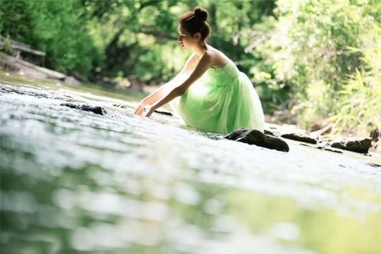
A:
[[[176,116],[196,128],[216,133],[241,127],[263,131],[262,106],[253,84],[225,54],[206,43],[206,20],[207,11],[199,6],[180,16],[178,41],[193,53],[173,80],[138,104],[135,114],[153,103],[145,114],[150,117],[169,102]]]

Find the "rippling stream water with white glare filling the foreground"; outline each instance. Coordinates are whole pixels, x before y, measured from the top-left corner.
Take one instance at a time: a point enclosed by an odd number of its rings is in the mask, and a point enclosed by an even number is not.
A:
[[[134,116],[142,95],[121,90],[0,83],[1,253],[381,253],[377,155],[224,140]]]

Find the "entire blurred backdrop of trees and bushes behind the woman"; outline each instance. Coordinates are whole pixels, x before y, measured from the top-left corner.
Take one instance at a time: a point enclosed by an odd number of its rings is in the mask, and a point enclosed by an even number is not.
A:
[[[209,11],[209,44],[253,81],[267,121],[363,136],[380,128],[378,0],[1,1],[0,33],[46,52],[23,56],[32,63],[150,92],[191,54],[176,19],[198,5]]]

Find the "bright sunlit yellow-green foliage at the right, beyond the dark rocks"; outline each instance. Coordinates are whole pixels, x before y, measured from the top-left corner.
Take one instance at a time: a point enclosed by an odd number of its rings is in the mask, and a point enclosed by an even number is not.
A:
[[[291,85],[298,123],[332,116],[334,133],[381,126],[380,1],[285,0],[276,13],[274,32],[258,50],[275,78]]]

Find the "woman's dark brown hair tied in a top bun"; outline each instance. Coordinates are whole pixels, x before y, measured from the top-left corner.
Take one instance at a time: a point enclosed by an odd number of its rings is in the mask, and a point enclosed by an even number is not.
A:
[[[197,6],[193,11],[187,11],[181,14],[179,17],[179,24],[183,27],[190,35],[195,35],[196,32],[200,32],[201,40],[207,40],[210,34],[210,26],[206,22],[207,11],[202,7]]]

